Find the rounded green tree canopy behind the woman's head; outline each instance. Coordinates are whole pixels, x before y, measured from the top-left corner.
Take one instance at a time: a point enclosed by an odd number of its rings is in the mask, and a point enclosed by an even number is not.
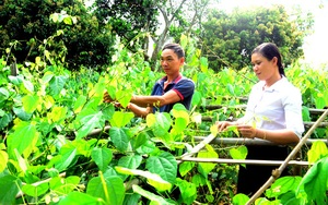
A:
[[[202,50],[210,67],[242,69],[249,64],[251,50],[261,43],[274,43],[285,65],[304,56],[303,40],[313,19],[291,16],[282,5],[235,9],[232,13],[212,10],[203,22]]]

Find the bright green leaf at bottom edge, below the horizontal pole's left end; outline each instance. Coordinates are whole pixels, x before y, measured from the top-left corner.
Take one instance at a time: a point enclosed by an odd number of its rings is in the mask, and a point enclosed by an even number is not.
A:
[[[194,183],[190,183],[186,180],[181,180],[179,178],[177,178],[176,184],[180,190],[183,202],[185,204],[192,204],[197,198],[196,185]]]

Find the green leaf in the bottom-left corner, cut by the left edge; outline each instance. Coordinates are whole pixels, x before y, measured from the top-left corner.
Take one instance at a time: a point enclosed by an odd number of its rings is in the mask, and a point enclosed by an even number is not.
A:
[[[15,196],[21,186],[21,180],[14,176],[0,177],[0,204],[15,204]]]

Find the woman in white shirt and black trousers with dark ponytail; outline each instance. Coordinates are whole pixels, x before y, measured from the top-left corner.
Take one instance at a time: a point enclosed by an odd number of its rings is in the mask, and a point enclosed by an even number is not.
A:
[[[251,52],[251,64],[259,79],[254,85],[243,118],[216,122],[219,131],[237,125],[243,137],[261,138],[278,145],[297,143],[304,132],[302,95],[285,77],[278,47],[265,43]],[[288,146],[247,146],[248,159],[283,160]],[[237,192],[255,194],[269,179],[272,166],[239,166]],[[281,176],[288,174],[285,170]]]

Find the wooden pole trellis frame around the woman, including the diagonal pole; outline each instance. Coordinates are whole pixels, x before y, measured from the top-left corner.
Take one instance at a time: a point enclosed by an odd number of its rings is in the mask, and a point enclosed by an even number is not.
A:
[[[243,107],[243,106],[241,106]],[[219,109],[222,108],[220,106],[214,106],[212,108]],[[209,108],[211,109],[211,108]],[[258,198],[281,174],[281,172],[285,169],[288,165],[296,165],[296,166],[308,166],[308,161],[300,161],[292,160],[296,154],[300,152],[304,144],[311,145],[316,141],[321,141],[328,144],[328,138],[326,140],[314,140],[309,138],[309,136],[314,133],[317,128],[327,128],[328,123],[323,122],[325,118],[328,116],[328,109],[311,109],[311,113],[320,114],[316,122],[304,122],[304,125],[309,128],[306,134],[301,138],[301,141],[294,146],[290,155],[285,158],[284,161],[281,160],[253,160],[253,159],[222,159],[222,158],[195,158],[192,157],[195,154],[199,153],[207,144],[231,144],[231,145],[266,145],[266,146],[277,146],[268,141],[262,140],[251,140],[251,138],[236,138],[236,137],[216,137],[212,134],[208,136],[195,136],[194,140],[199,142],[189,153],[185,153],[180,157],[177,158],[178,165],[183,161],[195,161],[195,162],[216,162],[216,164],[253,164],[253,165],[269,165],[269,166],[280,166],[278,169],[272,170],[272,176],[268,179],[268,181],[249,198],[247,205],[253,204],[256,198]],[[203,118],[204,120],[207,117]],[[210,119],[212,120],[212,119]],[[87,136],[97,135],[102,132],[106,132],[110,129],[110,126],[105,126],[104,129],[95,129]]]

